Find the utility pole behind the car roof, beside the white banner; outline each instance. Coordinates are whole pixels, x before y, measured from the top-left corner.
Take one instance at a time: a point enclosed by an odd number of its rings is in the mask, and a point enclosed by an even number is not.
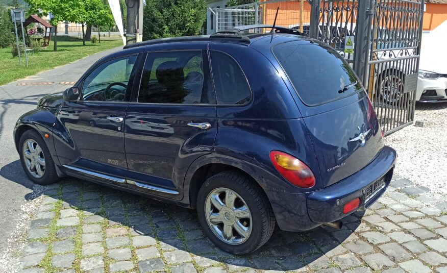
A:
[[[143,0],[127,0],[126,44],[143,40]]]

